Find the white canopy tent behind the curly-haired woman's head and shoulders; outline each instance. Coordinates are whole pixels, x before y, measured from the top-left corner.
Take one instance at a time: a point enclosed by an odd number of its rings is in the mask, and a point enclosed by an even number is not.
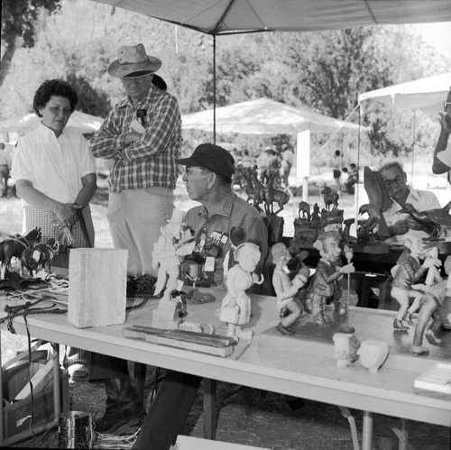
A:
[[[80,133],[92,134],[97,132],[103,121],[104,119],[96,115],[74,111],[70,115],[66,127],[78,130]],[[23,115],[23,117],[12,117],[0,121],[0,133],[28,133],[34,130],[40,122],[41,118],[34,113]]]

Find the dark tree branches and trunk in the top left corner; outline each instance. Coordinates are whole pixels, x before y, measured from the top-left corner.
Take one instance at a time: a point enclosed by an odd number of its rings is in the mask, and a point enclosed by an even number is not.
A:
[[[18,38],[23,47],[32,47],[40,14],[60,10],[60,0],[2,0],[2,41],[5,52],[0,67],[0,86],[11,67]]]

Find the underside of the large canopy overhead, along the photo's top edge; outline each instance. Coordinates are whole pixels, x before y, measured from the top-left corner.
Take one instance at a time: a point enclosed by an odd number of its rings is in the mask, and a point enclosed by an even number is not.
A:
[[[212,35],[451,21],[449,0],[91,0]]]

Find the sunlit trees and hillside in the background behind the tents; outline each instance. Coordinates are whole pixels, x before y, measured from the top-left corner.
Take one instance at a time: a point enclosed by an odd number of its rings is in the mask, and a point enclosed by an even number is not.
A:
[[[32,51],[16,52],[7,86],[1,87],[2,116],[28,110],[39,84],[57,77],[69,79],[78,89],[82,111],[105,115],[108,101],[114,105],[124,95],[121,83],[108,76],[106,68],[117,58],[120,46],[138,42],[161,58],[159,75],[177,96],[183,114],[214,104],[211,36],[87,0],[3,0],[3,4],[14,8],[14,14],[17,4],[49,9],[61,5],[61,9],[47,18],[45,28],[37,33],[33,28],[38,39]],[[9,30],[2,30],[2,38],[6,32],[11,41],[14,30]],[[5,39],[6,47],[9,41]],[[358,94],[443,73],[450,62],[422,42],[409,25],[220,36],[216,38],[216,106],[267,96],[345,119],[354,111]],[[363,111],[362,123],[372,128],[365,143],[370,152],[396,154],[430,146],[434,126],[428,116],[418,113],[414,118],[411,112],[400,114],[376,102],[365,103]],[[354,111],[352,120],[357,119]],[[326,139],[319,136],[318,143]],[[347,147],[347,138],[340,139]]]

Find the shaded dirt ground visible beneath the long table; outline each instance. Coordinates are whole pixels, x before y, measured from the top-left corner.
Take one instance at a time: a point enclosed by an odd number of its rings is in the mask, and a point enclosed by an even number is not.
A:
[[[5,335],[4,335],[5,338]],[[133,373],[133,364],[130,363]],[[155,368],[148,366],[146,376],[146,407],[150,404],[150,392],[154,385]],[[102,415],[106,394],[102,384],[87,381],[69,384],[70,410],[88,412],[92,418]],[[218,382],[216,406],[216,439],[241,445],[253,445],[272,450],[352,450],[354,449],[351,428],[340,409],[333,405],[311,400],[294,401],[290,407],[286,396],[262,390],[252,390],[253,405],[246,414],[243,390],[238,386]],[[203,437],[204,420],[202,387],[198,391],[183,435]],[[358,436],[362,442],[363,416],[351,410],[355,418]],[[391,427],[400,425],[400,420],[388,416],[374,415],[373,450],[394,450],[398,440]],[[115,431],[112,443],[100,436],[92,448],[121,448],[124,437],[138,430],[136,423]],[[420,422],[409,423],[409,450],[447,450],[450,448],[450,429]],[[35,439],[27,439],[14,445],[18,448],[58,448],[58,429],[51,428]],[[125,448],[122,446],[122,448]]]

